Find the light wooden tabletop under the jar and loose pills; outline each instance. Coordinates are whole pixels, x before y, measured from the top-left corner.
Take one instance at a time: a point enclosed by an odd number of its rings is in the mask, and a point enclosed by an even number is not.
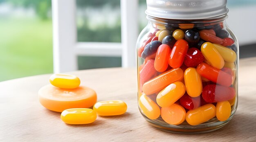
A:
[[[256,58],[240,60],[238,109],[223,128],[203,134],[175,134],[152,127],[137,107],[135,68],[106,68],[70,72],[81,85],[97,92],[98,101],[124,100],[124,115],[101,117],[88,125],[67,125],[60,113],[40,105],[37,92],[51,74],[0,83],[0,141],[256,141]]]

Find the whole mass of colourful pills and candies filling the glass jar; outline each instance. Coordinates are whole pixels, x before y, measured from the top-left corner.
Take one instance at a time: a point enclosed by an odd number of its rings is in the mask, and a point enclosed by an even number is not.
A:
[[[236,99],[236,45],[222,23],[155,25],[137,50],[139,108],[149,119],[199,125],[225,121]],[[160,29],[157,29],[161,27]]]

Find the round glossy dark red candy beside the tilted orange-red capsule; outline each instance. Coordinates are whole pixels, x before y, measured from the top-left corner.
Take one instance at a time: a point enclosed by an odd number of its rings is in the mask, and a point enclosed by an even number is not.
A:
[[[197,48],[189,48],[188,52],[186,53],[184,64],[187,67],[196,67],[200,63],[204,61],[204,56],[200,50]]]

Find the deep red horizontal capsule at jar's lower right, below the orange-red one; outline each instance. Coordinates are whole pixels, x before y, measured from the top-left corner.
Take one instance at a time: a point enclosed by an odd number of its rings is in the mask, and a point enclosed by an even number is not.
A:
[[[236,95],[233,87],[221,85],[206,85],[202,92],[202,97],[208,103],[217,103],[225,100],[231,100]]]

